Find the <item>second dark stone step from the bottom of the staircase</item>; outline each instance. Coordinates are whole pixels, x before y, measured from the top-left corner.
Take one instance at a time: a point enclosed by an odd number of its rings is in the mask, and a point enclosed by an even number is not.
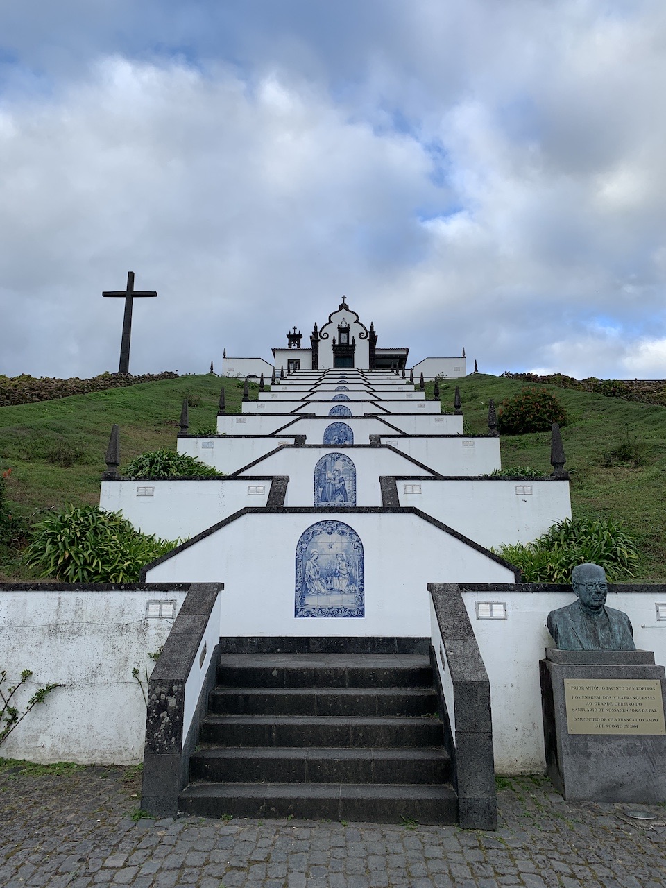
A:
[[[230,783],[432,783],[450,780],[443,749],[199,749],[190,780]]]

